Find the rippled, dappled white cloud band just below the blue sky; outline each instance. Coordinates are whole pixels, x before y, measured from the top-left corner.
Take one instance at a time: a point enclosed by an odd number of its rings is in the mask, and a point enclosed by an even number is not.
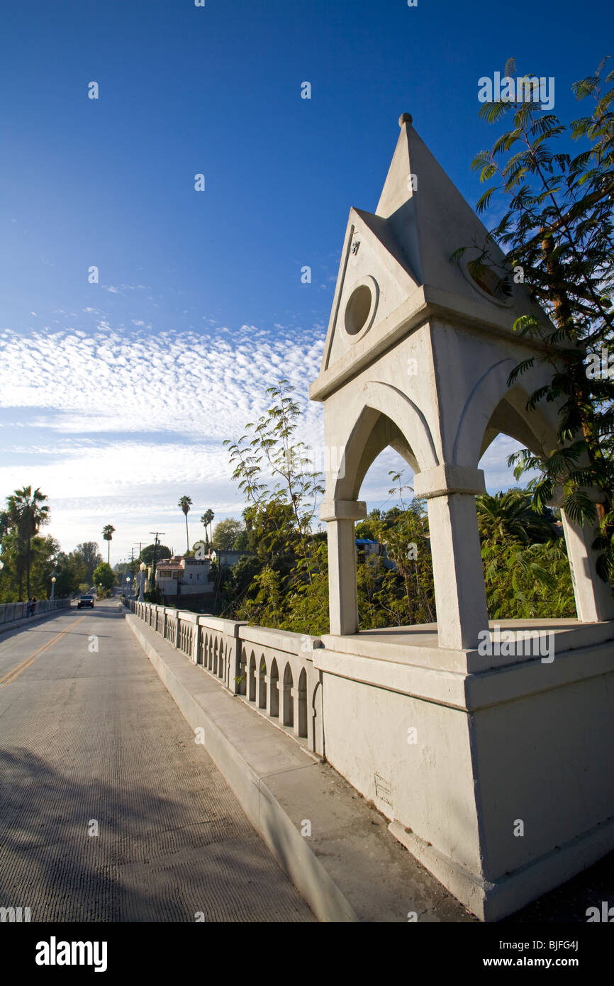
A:
[[[266,387],[283,376],[297,388],[311,429],[321,409],[307,402],[307,388],[322,347],[319,328],[292,338],[243,326],[224,339],[140,327],[124,335],[106,324],[93,334],[65,329],[24,337],[4,330],[1,402],[57,411],[49,422],[55,430],[222,439],[242,432],[266,407]]]

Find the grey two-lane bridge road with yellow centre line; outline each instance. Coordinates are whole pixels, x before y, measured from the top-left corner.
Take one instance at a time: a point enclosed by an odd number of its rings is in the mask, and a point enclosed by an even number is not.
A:
[[[315,920],[114,599],[0,636],[0,906],[33,922]]]

